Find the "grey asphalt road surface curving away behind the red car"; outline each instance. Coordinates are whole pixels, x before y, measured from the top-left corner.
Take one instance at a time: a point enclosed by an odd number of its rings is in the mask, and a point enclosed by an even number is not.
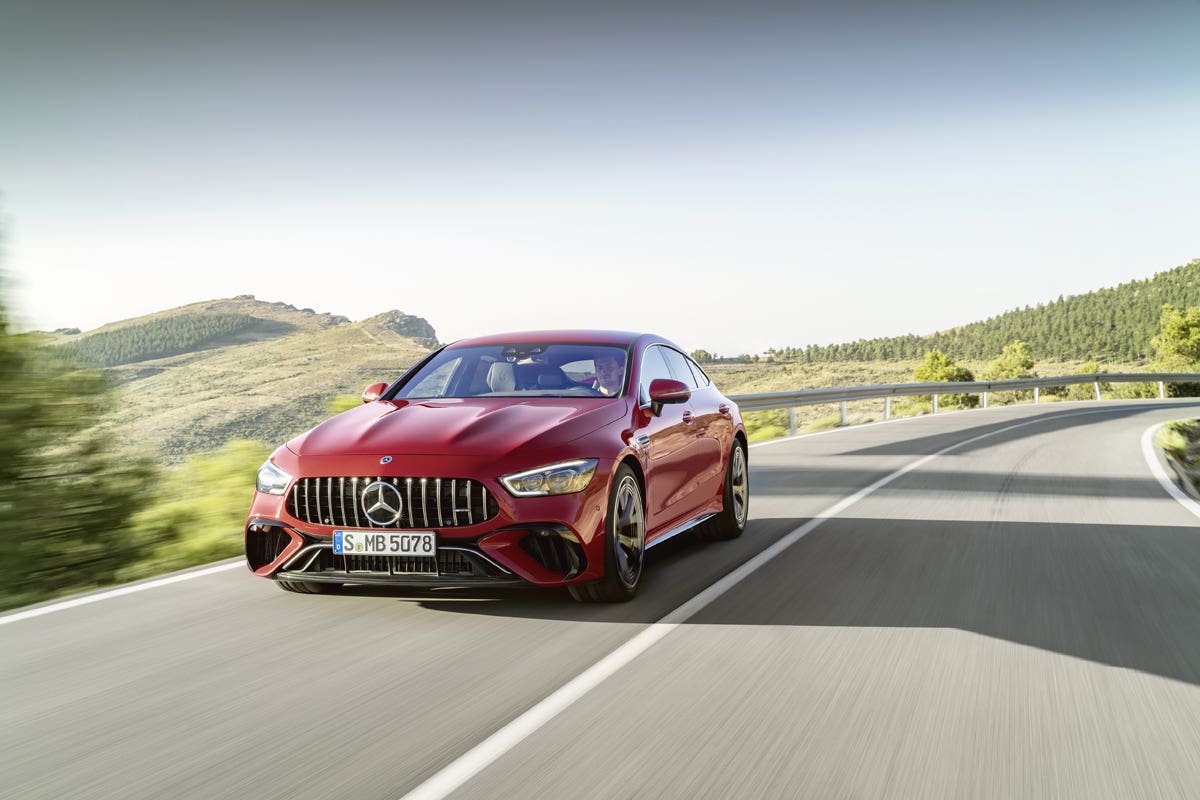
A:
[[[745,535],[652,551],[628,604],[290,595],[239,567],[0,618],[0,798],[400,799],[448,776],[454,798],[1196,798],[1200,519],[1141,447],[1196,408],[756,446]]]

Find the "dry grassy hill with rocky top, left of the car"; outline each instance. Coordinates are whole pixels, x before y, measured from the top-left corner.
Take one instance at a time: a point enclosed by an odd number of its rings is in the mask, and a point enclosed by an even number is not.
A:
[[[178,461],[229,439],[280,444],[328,417],[334,397],[397,377],[436,333],[398,311],[353,323],[241,296],[56,341],[119,384],[121,440]]]

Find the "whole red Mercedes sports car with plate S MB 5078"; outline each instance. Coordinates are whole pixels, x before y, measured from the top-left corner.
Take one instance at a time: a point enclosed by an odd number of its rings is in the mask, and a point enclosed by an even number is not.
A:
[[[258,473],[246,560],[283,589],[523,583],[622,601],[648,547],[746,524],[738,408],[660,336],[466,339],[362,402]]]

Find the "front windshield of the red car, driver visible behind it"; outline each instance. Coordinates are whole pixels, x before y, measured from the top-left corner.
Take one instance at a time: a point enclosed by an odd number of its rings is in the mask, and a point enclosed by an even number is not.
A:
[[[625,387],[625,349],[607,344],[528,343],[446,348],[395,398],[614,397]]]

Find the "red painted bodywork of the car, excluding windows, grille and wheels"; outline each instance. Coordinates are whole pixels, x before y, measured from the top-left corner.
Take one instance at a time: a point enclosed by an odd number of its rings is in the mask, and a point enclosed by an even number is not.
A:
[[[707,381],[694,362],[685,365],[694,375],[700,373],[692,384],[704,385],[695,385],[686,401],[661,405],[658,415],[644,402],[642,384],[650,372],[648,368],[642,374],[647,349],[662,345],[676,350],[671,354],[676,360],[672,369],[679,369],[676,356],[683,356],[677,345],[658,336],[620,331],[529,331],[461,341],[445,350],[452,355],[456,349],[509,343],[619,347],[628,354],[623,391],[614,397],[397,397],[406,385],[412,385],[406,381],[438,351],[389,386],[380,399],[344,411],[272,453],[270,463],[290,476],[290,483],[283,494],[254,493],[246,518],[247,561],[254,573],[304,581],[434,585],[564,585],[593,581],[604,575],[605,516],[613,473],[623,462],[636,468],[642,485],[647,546],[721,511],[734,437],[745,441],[736,404]],[[575,391],[583,391],[580,386],[583,384],[572,384]],[[500,482],[505,475],[581,458],[596,459],[595,471],[586,488],[571,494],[515,497]],[[486,488],[494,506],[485,503],[484,507],[494,507],[494,516],[467,524],[418,525],[437,534],[439,548],[461,547],[464,558],[478,561],[473,569],[486,570],[486,575],[444,581],[440,567],[439,575],[414,576],[397,573],[395,566],[386,572],[373,566],[374,572],[352,573],[349,559],[344,569],[338,567],[341,557],[323,551],[330,548],[334,531],[346,523],[326,524],[319,518],[319,506],[317,519],[289,511],[289,498],[298,483],[317,479],[328,481],[317,483],[317,501],[328,491],[326,505],[340,501],[343,515],[348,515],[344,482],[350,480],[413,479],[422,487],[439,481],[439,503],[442,481],[472,481],[472,486]],[[352,505],[358,501],[353,491],[349,497]],[[458,500],[451,505],[457,507]],[[359,509],[352,511],[358,518]],[[440,507],[437,511],[443,512]],[[415,517],[415,504],[409,513]],[[416,522],[428,518],[426,510]],[[454,519],[457,522],[457,513]],[[578,555],[582,564],[571,560],[571,569],[554,564],[540,546],[528,541],[539,536],[548,537],[556,547],[562,537],[568,542],[568,555]],[[304,566],[304,559],[313,553],[319,559]]]

